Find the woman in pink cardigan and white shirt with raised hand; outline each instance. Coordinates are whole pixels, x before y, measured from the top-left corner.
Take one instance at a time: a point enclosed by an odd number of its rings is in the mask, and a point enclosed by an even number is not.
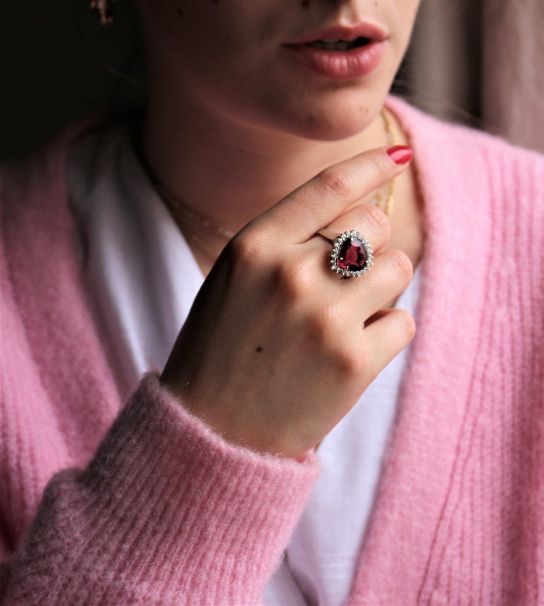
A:
[[[388,96],[418,0],[136,7],[2,170],[2,604],[542,603],[542,157]]]

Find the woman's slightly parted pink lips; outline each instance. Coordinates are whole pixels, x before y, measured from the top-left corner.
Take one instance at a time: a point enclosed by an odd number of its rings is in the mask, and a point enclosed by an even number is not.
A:
[[[370,42],[350,50],[324,50],[307,46],[308,42],[323,39],[354,40],[368,38]],[[320,76],[332,79],[361,78],[371,73],[386,50],[387,37],[375,25],[360,23],[353,27],[338,25],[300,36],[287,42],[284,48],[300,65]]]

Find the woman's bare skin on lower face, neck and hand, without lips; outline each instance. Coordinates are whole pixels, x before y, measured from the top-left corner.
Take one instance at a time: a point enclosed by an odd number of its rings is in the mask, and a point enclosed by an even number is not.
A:
[[[418,0],[137,8],[150,80],[147,162],[187,205],[237,233],[221,255],[221,242],[213,256],[194,250],[207,279],[161,380],[227,440],[298,458],[414,336],[411,316],[388,306],[420,258],[421,202],[413,169],[386,154],[379,112]],[[283,48],[363,20],[388,35],[383,61],[363,78],[316,76]],[[396,121],[395,132],[408,143]],[[395,176],[390,224],[363,202]],[[346,228],[383,253],[364,278],[340,282],[326,266],[329,244],[313,236]]]

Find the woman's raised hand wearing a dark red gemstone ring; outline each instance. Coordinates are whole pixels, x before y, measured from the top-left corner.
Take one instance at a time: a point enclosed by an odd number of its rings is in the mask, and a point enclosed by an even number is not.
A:
[[[161,381],[225,439],[299,458],[343,418],[409,344],[415,323],[383,310],[412,278],[399,250],[360,278],[329,268],[347,230],[375,251],[389,220],[367,193],[398,175],[386,147],[327,168],[246,225],[210,271]]]

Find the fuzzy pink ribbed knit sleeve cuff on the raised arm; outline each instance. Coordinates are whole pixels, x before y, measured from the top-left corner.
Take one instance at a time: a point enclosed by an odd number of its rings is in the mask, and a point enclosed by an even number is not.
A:
[[[45,488],[0,602],[258,604],[318,471],[229,444],[148,373],[85,470]]]

